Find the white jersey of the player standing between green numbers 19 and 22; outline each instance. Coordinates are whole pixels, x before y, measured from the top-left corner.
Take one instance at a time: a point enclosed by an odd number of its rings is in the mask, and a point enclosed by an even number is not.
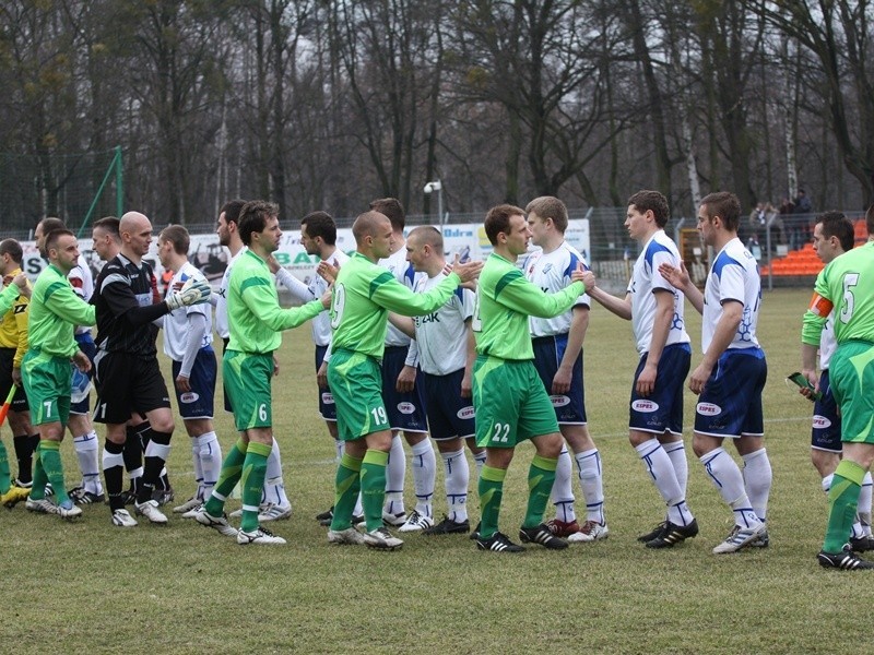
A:
[[[424,294],[434,288],[446,274],[434,277],[423,275],[416,279],[416,293]],[[449,300],[424,317],[415,317],[418,365],[432,376],[448,376],[463,369],[468,362],[468,331],[464,321],[473,315],[475,294],[458,287]]]

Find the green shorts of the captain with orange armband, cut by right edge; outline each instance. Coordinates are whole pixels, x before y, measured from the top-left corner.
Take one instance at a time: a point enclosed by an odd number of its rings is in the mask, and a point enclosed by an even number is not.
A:
[[[840,407],[840,440],[874,444],[874,344],[840,344],[829,361],[828,379]]]

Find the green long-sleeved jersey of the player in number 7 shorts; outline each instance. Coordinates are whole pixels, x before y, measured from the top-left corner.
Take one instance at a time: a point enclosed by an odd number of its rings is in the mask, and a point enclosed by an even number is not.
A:
[[[96,308],[76,296],[67,275],[54,264],[36,278],[27,320],[29,349],[55,357],[72,357],[79,350],[76,325],[94,325]]]

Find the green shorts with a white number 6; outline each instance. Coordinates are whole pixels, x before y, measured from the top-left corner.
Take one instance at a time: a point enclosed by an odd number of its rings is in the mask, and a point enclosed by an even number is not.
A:
[[[270,379],[273,377],[271,353],[225,350],[222,361],[225,389],[234,406],[234,424],[243,432],[273,425]]]

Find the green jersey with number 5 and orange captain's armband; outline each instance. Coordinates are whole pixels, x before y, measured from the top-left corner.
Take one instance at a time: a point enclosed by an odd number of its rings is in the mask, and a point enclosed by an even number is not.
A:
[[[815,294],[804,314],[801,341],[819,346],[819,334],[834,306],[835,338],[874,343],[874,242],[834,259],[816,277]]]

